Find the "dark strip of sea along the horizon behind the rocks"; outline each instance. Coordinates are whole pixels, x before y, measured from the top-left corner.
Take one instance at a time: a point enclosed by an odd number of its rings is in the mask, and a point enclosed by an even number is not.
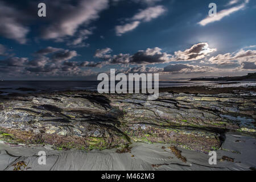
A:
[[[100,82],[101,81],[0,81],[0,94],[6,95],[10,93],[56,92],[65,90],[97,91],[97,87]],[[256,86],[256,81],[159,81],[159,88],[168,88],[174,86]]]

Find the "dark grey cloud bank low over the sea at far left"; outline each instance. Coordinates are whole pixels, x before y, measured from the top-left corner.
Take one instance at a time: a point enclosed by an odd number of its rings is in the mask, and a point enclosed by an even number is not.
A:
[[[34,59],[26,57],[9,57],[0,61],[0,71],[5,77],[75,77],[96,76],[88,67],[102,67],[104,62],[71,61],[78,56],[76,51],[63,48],[46,47],[36,51]]]

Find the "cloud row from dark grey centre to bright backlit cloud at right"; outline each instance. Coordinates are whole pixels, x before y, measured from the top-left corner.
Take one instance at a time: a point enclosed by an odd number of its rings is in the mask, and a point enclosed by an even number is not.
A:
[[[129,53],[119,53],[110,55],[110,48],[98,49],[95,56],[107,61],[109,64],[158,64],[172,61],[192,61],[200,60],[216,51],[209,48],[208,43],[198,43],[185,51],[176,51],[174,55],[163,52],[159,47],[147,48],[146,50],[137,51],[133,55]]]

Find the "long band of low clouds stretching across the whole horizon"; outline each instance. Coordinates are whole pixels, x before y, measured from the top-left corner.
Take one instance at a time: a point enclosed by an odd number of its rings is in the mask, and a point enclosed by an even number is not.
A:
[[[174,55],[164,52],[159,47],[147,48],[134,54],[119,53],[112,55],[109,47],[97,49],[94,57],[101,61],[76,61],[73,60],[79,54],[76,51],[46,47],[36,51],[34,59],[28,60],[25,57],[9,57],[0,61],[0,71],[10,73],[15,70],[24,76],[88,76],[89,68],[102,68],[105,65],[121,65],[119,69],[123,73],[160,73],[161,75],[188,75],[212,72],[228,72],[230,68],[242,70],[255,69],[256,50],[243,50],[226,53],[208,58],[208,55],[216,51],[210,48],[208,43],[197,43],[184,51],[175,51]],[[196,65],[194,60],[202,60]],[[181,64],[180,61],[191,61],[189,64]],[[164,68],[151,67],[154,64],[172,63]],[[150,66],[151,65],[151,66]],[[216,67],[218,65],[218,67]],[[97,69],[96,69],[97,70]],[[94,74],[95,75],[95,74]]]

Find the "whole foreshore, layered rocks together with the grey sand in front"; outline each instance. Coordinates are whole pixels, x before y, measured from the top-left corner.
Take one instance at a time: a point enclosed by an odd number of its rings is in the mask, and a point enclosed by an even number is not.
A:
[[[1,96],[5,142],[0,144],[0,168],[11,170],[22,160],[31,170],[249,170],[256,164],[253,153],[246,153],[255,148],[252,92],[253,86],[161,88],[156,101],[146,101],[143,94],[82,90]],[[170,146],[176,146],[187,163],[172,154]],[[38,166],[38,150],[49,152],[46,166]],[[211,150],[218,159],[225,154],[236,160],[209,166]],[[16,155],[22,151],[24,155]],[[65,158],[77,162],[64,165]],[[102,158],[105,164],[87,158]]]

